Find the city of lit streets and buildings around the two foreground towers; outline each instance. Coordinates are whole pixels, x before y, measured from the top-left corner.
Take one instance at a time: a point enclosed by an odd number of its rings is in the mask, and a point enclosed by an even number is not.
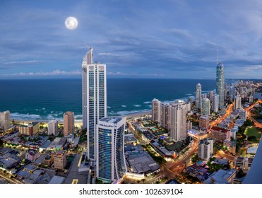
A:
[[[127,170],[112,183],[242,183],[261,139],[262,83],[239,80],[223,90],[223,107],[197,84],[196,97],[152,98],[151,112],[123,117]],[[0,183],[104,183],[87,139],[73,112],[63,122],[11,120],[1,112]]]

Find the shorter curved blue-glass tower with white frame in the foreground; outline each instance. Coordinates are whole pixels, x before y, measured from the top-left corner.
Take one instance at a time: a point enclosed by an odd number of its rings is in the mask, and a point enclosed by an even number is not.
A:
[[[119,180],[126,173],[124,129],[126,117],[104,117],[97,123],[97,179]]]

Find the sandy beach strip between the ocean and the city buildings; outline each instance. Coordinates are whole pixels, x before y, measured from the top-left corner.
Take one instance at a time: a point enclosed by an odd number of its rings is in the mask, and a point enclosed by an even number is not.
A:
[[[151,115],[151,110],[148,110],[148,111],[141,111],[141,112],[135,112],[135,113],[131,113],[131,114],[128,114],[128,115],[116,115],[116,117],[126,117],[126,120],[127,119],[133,119],[135,117],[141,117],[142,115]],[[11,121],[14,120],[14,122],[23,122],[24,124],[29,124],[31,122],[42,122],[42,123],[48,123],[49,121],[51,120],[17,120],[17,119],[10,119]],[[55,119],[54,119],[55,120]],[[63,121],[59,121],[58,122],[59,124],[63,123]],[[75,120],[75,124],[76,125],[82,125],[83,122],[82,120]]]

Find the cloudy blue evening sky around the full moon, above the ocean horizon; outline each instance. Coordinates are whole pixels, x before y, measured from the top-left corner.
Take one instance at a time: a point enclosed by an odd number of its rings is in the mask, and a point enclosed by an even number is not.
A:
[[[1,0],[0,16],[0,78],[81,78],[83,42],[108,77],[215,78],[218,49],[225,78],[262,78],[259,0]]]

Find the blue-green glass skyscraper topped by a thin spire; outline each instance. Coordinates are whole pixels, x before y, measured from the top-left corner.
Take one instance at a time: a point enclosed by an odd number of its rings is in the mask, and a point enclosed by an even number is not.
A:
[[[225,103],[225,71],[224,71],[224,65],[219,63],[217,65],[217,76],[216,76],[216,83],[215,88],[217,91],[217,94],[219,95],[219,103],[218,107],[220,109],[224,108]]]

